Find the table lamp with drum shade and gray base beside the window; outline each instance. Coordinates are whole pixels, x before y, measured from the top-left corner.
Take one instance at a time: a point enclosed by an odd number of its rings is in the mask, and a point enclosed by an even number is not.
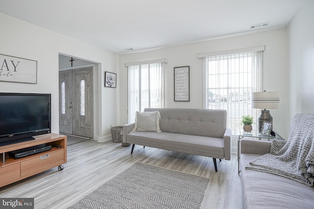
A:
[[[264,121],[273,122],[273,117],[266,109],[279,108],[279,93],[278,92],[253,92],[251,95],[251,107],[255,109],[262,109],[258,116],[257,128],[261,132]]]

